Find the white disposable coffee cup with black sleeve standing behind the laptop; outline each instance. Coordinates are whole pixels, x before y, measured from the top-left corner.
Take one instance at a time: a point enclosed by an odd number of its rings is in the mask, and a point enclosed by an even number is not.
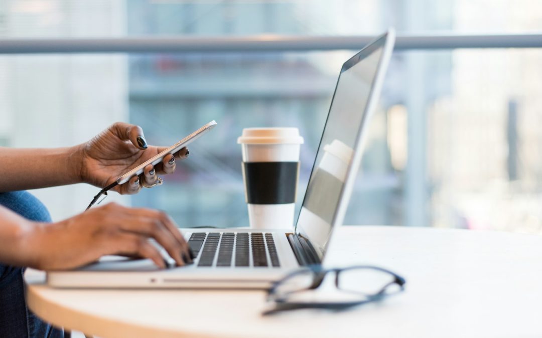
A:
[[[293,228],[303,142],[297,128],[243,129],[237,143],[251,228]]]

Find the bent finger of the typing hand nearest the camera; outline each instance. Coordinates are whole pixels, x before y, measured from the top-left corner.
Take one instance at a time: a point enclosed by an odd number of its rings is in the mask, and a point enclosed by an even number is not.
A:
[[[120,233],[112,236],[115,254],[140,256],[150,259],[158,267],[165,269],[167,264],[158,250],[152,246],[146,237],[133,233]]]

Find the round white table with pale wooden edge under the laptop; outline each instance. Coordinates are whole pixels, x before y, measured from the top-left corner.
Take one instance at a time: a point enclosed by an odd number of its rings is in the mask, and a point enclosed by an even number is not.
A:
[[[401,227],[343,227],[328,263],[375,264],[403,294],[348,312],[262,317],[263,291],[59,290],[26,276],[43,319],[102,337],[542,336],[542,236]]]

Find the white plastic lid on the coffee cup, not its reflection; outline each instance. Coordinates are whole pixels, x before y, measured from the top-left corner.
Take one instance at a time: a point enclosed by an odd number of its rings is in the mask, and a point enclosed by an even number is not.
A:
[[[298,128],[244,128],[240,144],[302,144]]]

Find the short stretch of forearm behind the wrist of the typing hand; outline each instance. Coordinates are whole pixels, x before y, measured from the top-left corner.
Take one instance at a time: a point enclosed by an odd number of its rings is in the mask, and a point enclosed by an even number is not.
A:
[[[0,263],[36,267],[36,254],[33,252],[36,247],[25,244],[30,235],[36,231],[41,231],[38,223],[0,206]]]

